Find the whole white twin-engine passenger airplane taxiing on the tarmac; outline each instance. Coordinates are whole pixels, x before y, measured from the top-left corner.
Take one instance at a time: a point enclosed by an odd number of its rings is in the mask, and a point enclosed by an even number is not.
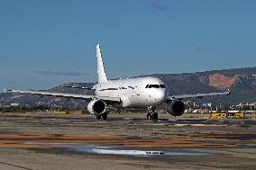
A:
[[[148,108],[147,119],[158,120],[156,109],[161,104],[167,104],[167,111],[172,116],[180,116],[185,111],[185,104],[181,102],[185,98],[202,98],[205,96],[230,94],[230,91],[210,94],[183,94],[169,95],[164,83],[156,77],[137,77],[129,79],[108,80],[105,76],[105,68],[101,57],[99,44],[96,45],[97,76],[98,83],[93,86],[95,95],[87,94],[63,94],[42,91],[9,90],[9,92],[22,94],[39,94],[87,100],[88,112],[96,115],[96,119],[107,118],[108,108],[113,106],[118,110],[122,108]],[[64,86],[71,88],[87,89],[87,87]]]

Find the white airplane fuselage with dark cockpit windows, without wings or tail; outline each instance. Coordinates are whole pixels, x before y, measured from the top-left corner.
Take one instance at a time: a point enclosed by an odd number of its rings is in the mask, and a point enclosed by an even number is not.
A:
[[[165,103],[164,83],[155,77],[109,80],[94,86],[97,96],[120,97],[123,107],[150,107]]]

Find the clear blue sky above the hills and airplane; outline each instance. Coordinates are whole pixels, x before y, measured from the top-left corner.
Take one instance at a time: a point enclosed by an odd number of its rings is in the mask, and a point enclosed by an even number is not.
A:
[[[0,89],[256,66],[254,0],[0,0]]]

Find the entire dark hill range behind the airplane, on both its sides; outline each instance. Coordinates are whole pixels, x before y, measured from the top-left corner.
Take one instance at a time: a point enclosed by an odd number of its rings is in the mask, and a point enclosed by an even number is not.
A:
[[[231,90],[231,95],[224,97],[206,97],[204,102],[214,103],[252,103],[256,102],[256,67],[232,68],[197,73],[182,74],[153,74],[143,76],[159,77],[169,89],[171,94],[197,94],[221,92]],[[93,83],[70,83],[68,85],[93,86]],[[50,92],[93,94],[92,91],[81,89],[53,87]],[[70,104],[65,99],[52,97],[40,98],[28,94],[0,94],[0,103],[36,103],[51,102],[57,104]],[[197,102],[200,102],[196,100]],[[201,100],[202,102],[202,100]],[[73,101],[77,106],[85,102]]]

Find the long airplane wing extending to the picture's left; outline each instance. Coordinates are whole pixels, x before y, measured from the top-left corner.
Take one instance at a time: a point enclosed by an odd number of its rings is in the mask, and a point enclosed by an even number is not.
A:
[[[109,102],[120,102],[121,99],[119,97],[108,97],[108,96],[96,96],[96,95],[86,95],[86,94],[64,94],[64,93],[52,93],[52,92],[42,92],[42,91],[22,91],[22,90],[8,90],[8,92],[13,93],[21,93],[21,94],[37,94],[41,96],[55,96],[55,97],[66,97],[66,98],[73,98],[73,99],[83,99],[83,100],[94,100],[100,99],[103,101]]]

